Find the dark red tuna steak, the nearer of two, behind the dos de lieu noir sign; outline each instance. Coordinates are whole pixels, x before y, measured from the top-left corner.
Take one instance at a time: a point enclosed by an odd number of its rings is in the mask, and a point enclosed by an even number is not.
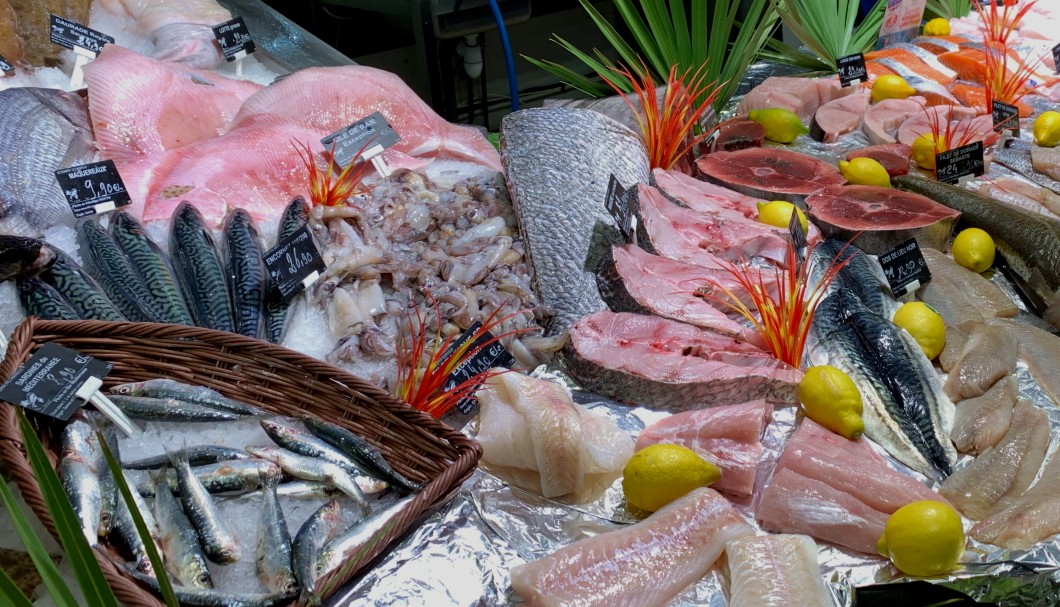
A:
[[[942,249],[960,213],[930,198],[876,185],[832,185],[806,199],[813,222],[829,238],[879,255],[909,238]]]

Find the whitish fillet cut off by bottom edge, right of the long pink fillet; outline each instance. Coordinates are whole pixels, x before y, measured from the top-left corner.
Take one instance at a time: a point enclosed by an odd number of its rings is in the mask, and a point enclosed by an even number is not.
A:
[[[725,546],[729,607],[832,607],[817,565],[817,544],[806,535],[735,539]]]

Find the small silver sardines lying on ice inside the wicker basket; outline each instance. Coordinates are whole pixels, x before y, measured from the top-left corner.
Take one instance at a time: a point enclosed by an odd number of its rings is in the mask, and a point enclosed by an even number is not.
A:
[[[111,399],[129,417],[154,422],[217,423],[257,417],[271,446],[235,449],[184,446],[177,452],[122,461],[136,507],[149,530],[184,605],[278,606],[300,593],[311,596],[317,581],[338,569],[368,542],[412,498],[419,485],[394,470],[382,454],[353,432],[313,416],[302,416],[303,430],[293,421],[270,416],[218,392],[171,379],[151,379],[111,388]],[[108,447],[120,458],[117,431],[104,429]],[[143,539],[110,476],[95,426],[78,413],[63,433],[58,474],[89,543],[117,536],[127,547],[126,571],[158,589]],[[137,482],[130,470],[148,470],[149,481]],[[372,512],[366,494],[391,488],[405,496]],[[241,546],[218,510],[222,496],[261,496],[261,539],[255,555]],[[356,512],[342,512],[330,499],[292,539],[280,508],[280,497],[349,496]],[[146,499],[153,498],[148,505]],[[347,508],[349,510],[349,508]],[[349,520],[355,517],[352,525]],[[257,558],[265,593],[215,589],[207,559],[229,565]]]

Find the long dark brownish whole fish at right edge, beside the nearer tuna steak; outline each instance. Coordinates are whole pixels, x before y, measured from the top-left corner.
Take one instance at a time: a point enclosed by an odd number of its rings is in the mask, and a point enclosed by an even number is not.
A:
[[[1060,221],[935,180],[902,175],[891,183],[956,209],[962,224],[989,232],[1012,269],[1046,302],[1060,289]]]

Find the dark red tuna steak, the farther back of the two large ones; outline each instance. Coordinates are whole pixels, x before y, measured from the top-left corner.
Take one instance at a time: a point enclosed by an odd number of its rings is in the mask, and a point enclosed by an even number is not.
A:
[[[807,196],[844,182],[831,164],[775,147],[719,151],[696,161],[708,181],[765,200],[801,204]]]

